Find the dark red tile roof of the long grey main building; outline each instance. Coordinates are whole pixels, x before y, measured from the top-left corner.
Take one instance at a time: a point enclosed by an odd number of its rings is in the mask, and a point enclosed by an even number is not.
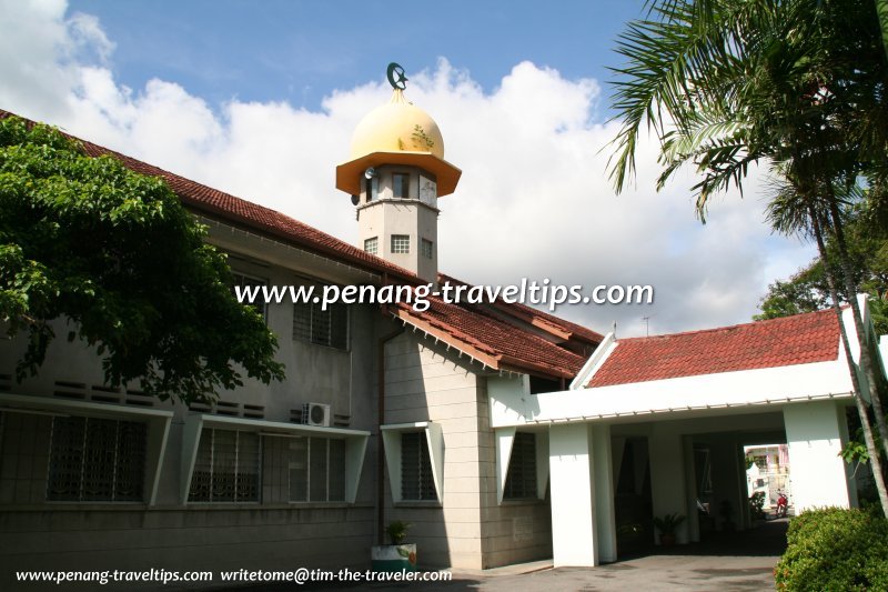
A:
[[[14,116],[0,109],[0,119]],[[17,117],[17,116],[14,116]],[[27,120],[26,120],[27,121]],[[171,173],[152,164],[135,160],[108,148],[80,140],[89,155],[109,154],[123,164],[142,174],[161,177],[182,199],[190,210],[210,218],[224,220],[226,223],[249,228],[265,235],[278,238],[284,242],[306,248],[331,259],[359,268],[386,273],[395,283],[425,283],[413,272],[392,264],[384,259],[370,254],[356,247],[343,242],[325,232],[312,228],[299,220],[278,211],[264,208],[250,201],[236,198],[223,191],[202,185],[184,177]],[[442,275],[442,281],[450,280]],[[455,281],[455,280],[452,280]],[[390,310],[395,317],[417,325],[427,325],[433,333],[453,347],[471,350],[496,369],[525,370],[546,375],[573,378],[579,372],[585,359],[537,335],[532,328],[522,328],[516,323],[485,313],[480,307],[471,304],[446,304],[431,299],[433,305],[425,312],[416,312],[408,305],[394,307]],[[565,332],[582,335],[582,339],[597,344],[602,337],[584,327],[563,321],[557,317],[524,307],[523,304],[501,304],[512,310],[517,318],[539,319]],[[528,322],[528,324],[534,324]]]

